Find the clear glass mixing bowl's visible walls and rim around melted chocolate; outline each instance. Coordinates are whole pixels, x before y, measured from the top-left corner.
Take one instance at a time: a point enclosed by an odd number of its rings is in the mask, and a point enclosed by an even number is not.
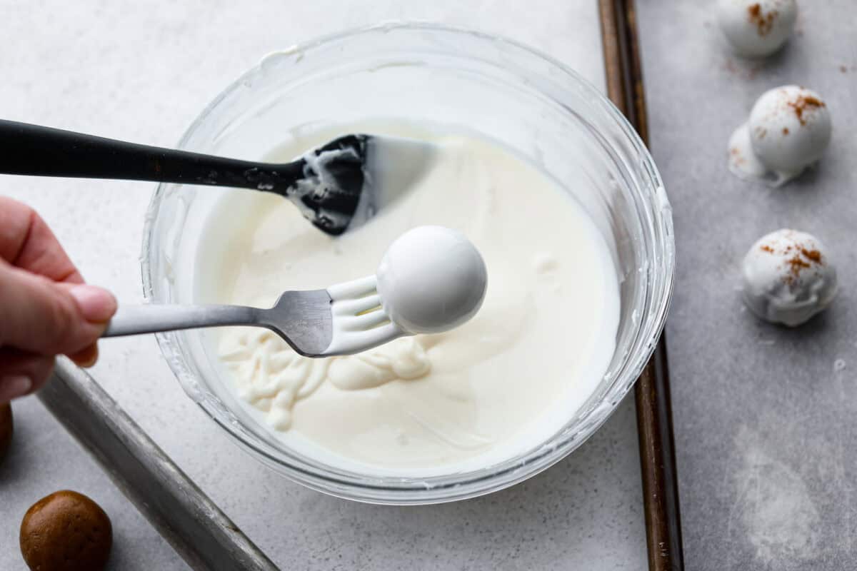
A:
[[[649,153],[601,92],[523,45],[449,27],[383,25],[271,54],[203,110],[178,146],[258,160],[279,146],[285,129],[397,116],[464,126],[503,141],[572,193],[608,241],[620,278],[615,353],[594,393],[560,431],[525,454],[472,472],[421,479],[350,473],[296,454],[251,419],[213,366],[200,332],[165,333],[158,340],[187,394],[279,473],[365,502],[448,502],[539,473],[608,419],[649,359],[666,318],[672,217]],[[154,193],[142,254],[147,300],[194,300],[189,268],[216,195],[172,184]]]

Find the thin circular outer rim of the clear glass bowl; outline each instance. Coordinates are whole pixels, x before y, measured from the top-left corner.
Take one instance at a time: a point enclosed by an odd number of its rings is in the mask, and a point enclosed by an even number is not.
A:
[[[195,389],[199,390],[196,383],[194,372],[183,362],[183,355],[175,343],[171,340],[170,334],[157,334],[156,338],[159,343],[162,354],[164,354],[168,365],[172,372],[178,378],[183,389],[189,393],[189,396],[194,398],[196,403],[202,408],[207,415],[213,419],[232,440],[240,447],[245,449],[250,455],[257,460],[272,467],[275,471],[285,474],[286,477],[297,481],[300,484],[316,491],[322,491],[327,494],[344,497],[351,500],[366,503],[384,503],[394,505],[405,504],[429,504],[429,503],[445,503],[457,501],[470,497],[482,496],[494,491],[502,490],[508,486],[517,484],[518,482],[528,479],[542,470],[554,465],[557,461],[562,460],[583,444],[598,428],[609,418],[619,405],[622,398],[631,389],[644,366],[654,352],[656,343],[661,335],[663,326],[666,322],[670,301],[672,298],[674,285],[675,271],[675,248],[674,234],[672,225],[672,210],[668,203],[666,193],[663,190],[661,177],[658,173],[656,165],[651,158],[644,142],[640,140],[636,130],[627,122],[626,117],[622,115],[614,104],[604,96],[595,86],[592,86],[588,80],[585,80],[572,68],[569,68],[564,63],[559,62],[547,54],[530,48],[527,45],[521,44],[516,40],[507,39],[489,33],[477,32],[464,27],[454,27],[445,24],[435,24],[428,22],[386,22],[374,26],[357,27],[344,32],[332,33],[322,36],[317,39],[309,40],[303,44],[295,45],[289,51],[297,51],[305,53],[311,51],[315,47],[339,42],[352,37],[357,37],[367,33],[388,32],[390,30],[414,31],[414,32],[436,32],[448,34],[464,34],[471,38],[487,40],[491,42],[500,42],[506,48],[518,51],[524,57],[535,57],[548,63],[560,70],[562,74],[567,76],[567,79],[572,83],[577,83],[578,87],[584,89],[590,95],[596,104],[602,107],[620,128],[626,140],[630,143],[636,152],[638,158],[644,166],[644,173],[650,179],[653,193],[642,195],[638,198],[642,199],[641,203],[647,207],[646,214],[650,217],[650,225],[655,233],[656,259],[649,260],[650,267],[648,271],[656,271],[657,278],[660,283],[656,283],[657,291],[652,294],[647,288],[644,294],[647,311],[640,318],[640,324],[632,346],[628,352],[626,360],[620,366],[617,374],[611,380],[608,390],[597,407],[592,407],[588,413],[581,419],[583,427],[561,437],[558,442],[550,447],[542,446],[539,449],[531,450],[528,454],[501,463],[499,466],[484,468],[470,473],[453,474],[450,476],[438,476],[428,479],[401,479],[401,478],[342,478],[339,475],[328,473],[323,468],[313,466],[297,466],[285,463],[282,459],[269,454],[266,449],[261,448],[254,442],[250,442],[242,431],[226,422],[219,416],[219,411],[212,406],[209,399],[199,399],[190,395],[188,384],[192,384]],[[202,122],[207,119],[213,110],[234,90],[245,85],[254,74],[260,70],[260,64],[250,68],[242,74],[237,80],[234,80],[223,92],[213,99],[213,101],[201,111],[194,122],[192,122],[179,140],[177,148],[183,149],[188,143],[189,138],[195,133]],[[555,80],[555,78],[554,78]],[[150,256],[152,253],[152,243],[154,240],[153,232],[155,230],[155,216],[159,209],[160,200],[165,194],[166,187],[169,185],[159,184],[153,193],[151,199],[146,222],[143,229],[142,253],[141,253],[141,273],[143,282],[143,294],[147,301],[152,301],[154,298],[154,278],[152,275],[152,263]],[[637,189],[632,189],[637,190]],[[644,189],[640,189],[644,190]],[[644,225],[644,224],[643,224]],[[656,262],[657,267],[652,268],[652,262]],[[605,405],[606,402],[606,405]]]

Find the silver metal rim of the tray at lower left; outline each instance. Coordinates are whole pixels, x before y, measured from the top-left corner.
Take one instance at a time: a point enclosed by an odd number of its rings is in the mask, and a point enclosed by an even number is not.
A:
[[[61,360],[39,401],[199,571],[277,567],[86,372]]]

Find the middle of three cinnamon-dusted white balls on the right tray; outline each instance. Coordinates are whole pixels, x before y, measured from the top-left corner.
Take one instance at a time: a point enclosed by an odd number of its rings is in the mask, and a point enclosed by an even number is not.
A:
[[[753,152],[787,177],[816,163],[830,144],[830,111],[818,93],[799,86],[764,92],[750,111]]]

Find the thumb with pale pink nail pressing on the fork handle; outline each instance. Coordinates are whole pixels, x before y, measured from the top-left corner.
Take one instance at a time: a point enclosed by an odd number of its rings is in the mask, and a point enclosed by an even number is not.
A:
[[[56,283],[0,263],[0,347],[73,354],[95,342],[116,312],[102,288]]]

